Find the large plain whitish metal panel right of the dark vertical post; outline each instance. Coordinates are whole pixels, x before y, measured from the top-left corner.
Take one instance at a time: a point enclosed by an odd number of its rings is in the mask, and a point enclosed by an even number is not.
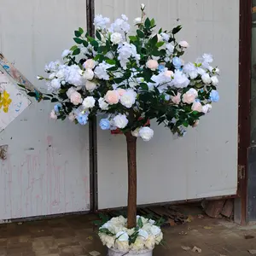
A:
[[[96,0],[96,14],[131,19],[137,0]],[[144,1],[159,26],[183,25],[180,40],[191,47],[185,60],[211,52],[221,69],[220,102],[179,140],[163,126],[149,143],[138,142],[138,204],[234,195],[237,189],[238,0]],[[126,205],[125,137],[98,130],[99,208]]]

